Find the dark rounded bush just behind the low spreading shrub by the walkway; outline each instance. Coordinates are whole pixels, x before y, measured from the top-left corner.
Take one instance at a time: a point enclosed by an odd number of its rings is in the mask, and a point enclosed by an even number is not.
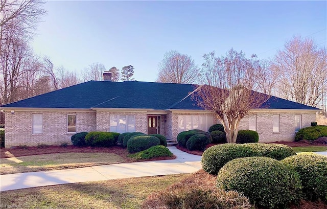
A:
[[[141,152],[156,145],[160,145],[160,140],[155,136],[135,135],[128,140],[127,150],[130,153]]]

